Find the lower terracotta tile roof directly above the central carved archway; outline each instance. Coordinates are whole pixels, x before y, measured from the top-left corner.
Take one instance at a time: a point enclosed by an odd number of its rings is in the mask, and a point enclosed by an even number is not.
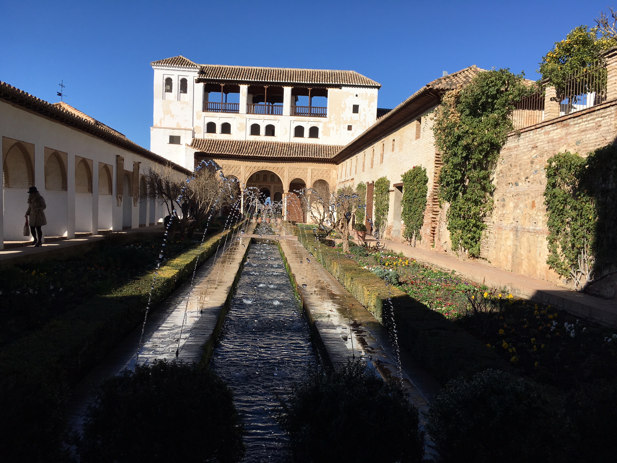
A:
[[[331,162],[340,145],[261,140],[194,138],[191,148],[210,157]]]

